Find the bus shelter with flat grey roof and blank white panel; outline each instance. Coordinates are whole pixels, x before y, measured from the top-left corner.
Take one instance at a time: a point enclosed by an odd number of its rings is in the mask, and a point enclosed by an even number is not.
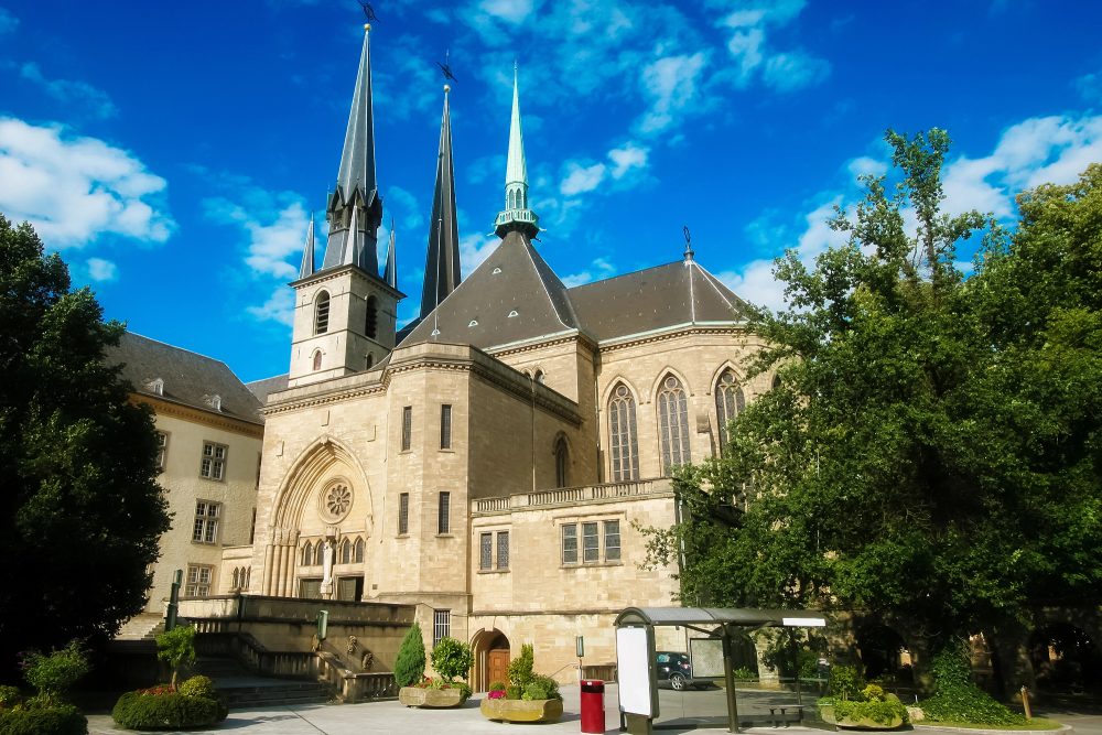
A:
[[[722,663],[706,663],[705,667],[710,670],[696,672],[696,675],[714,675],[716,679],[722,675],[726,692],[727,731],[738,733],[738,702],[732,666],[733,638],[766,627],[822,628],[825,625],[827,620],[815,610],[628,607],[616,616],[616,668],[622,729],[626,728],[629,733],[653,732],[653,720],[659,715],[656,627],[683,627],[721,644]]]

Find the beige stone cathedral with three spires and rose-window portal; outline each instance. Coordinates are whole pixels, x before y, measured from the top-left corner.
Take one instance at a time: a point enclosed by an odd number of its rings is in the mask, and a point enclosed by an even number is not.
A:
[[[584,285],[555,275],[533,245],[516,75],[500,242],[466,278],[444,87],[421,310],[399,329],[393,240],[377,256],[369,35],[324,251],[311,225],[289,287],[290,370],[249,386],[255,520],[225,540],[209,594],[413,606],[428,647],[471,644],[476,690],[523,644],[573,677],[576,637],[587,662],[614,661],[616,614],[672,603],[677,570],[642,569],[639,528],[677,522],[673,467],[721,452],[773,377],[745,378],[760,346],[745,303],[688,245]]]

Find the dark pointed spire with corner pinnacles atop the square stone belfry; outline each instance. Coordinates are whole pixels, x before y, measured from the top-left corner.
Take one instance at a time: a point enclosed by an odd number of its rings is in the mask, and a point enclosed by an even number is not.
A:
[[[329,195],[325,210],[329,235],[322,268],[350,263],[378,278],[376,244],[382,221],[382,201],[375,177],[370,30],[370,25],[364,25],[364,47],[341,152],[336,190]],[[353,215],[357,213],[360,229],[358,235],[350,236]]]

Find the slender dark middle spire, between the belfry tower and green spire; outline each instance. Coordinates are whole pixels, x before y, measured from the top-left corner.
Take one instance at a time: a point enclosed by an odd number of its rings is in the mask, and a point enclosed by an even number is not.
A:
[[[455,219],[455,173],[452,165],[452,117],[444,85],[444,114],[440,122],[440,152],[436,154],[436,187],[432,195],[429,251],[424,258],[424,288],[421,318],[447,298],[460,284],[460,230]]]

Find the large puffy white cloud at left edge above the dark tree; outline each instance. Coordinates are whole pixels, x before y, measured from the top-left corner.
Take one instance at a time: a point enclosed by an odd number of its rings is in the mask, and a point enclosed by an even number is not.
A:
[[[166,185],[101,140],[0,118],[0,209],[29,220],[47,246],[82,247],[107,235],[164,242],[176,227]]]

